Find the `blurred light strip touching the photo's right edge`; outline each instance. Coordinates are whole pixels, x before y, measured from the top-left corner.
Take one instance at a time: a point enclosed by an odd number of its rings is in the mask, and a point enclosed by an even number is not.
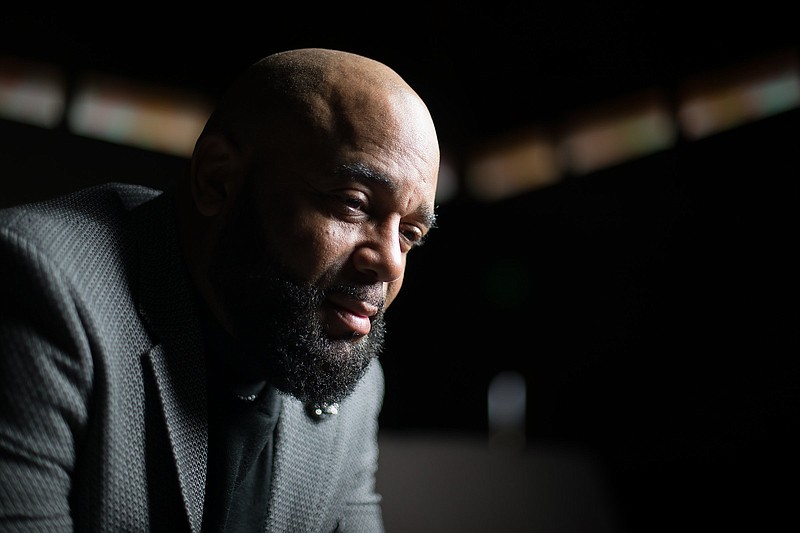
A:
[[[800,106],[796,51],[686,81],[678,121],[694,140]]]

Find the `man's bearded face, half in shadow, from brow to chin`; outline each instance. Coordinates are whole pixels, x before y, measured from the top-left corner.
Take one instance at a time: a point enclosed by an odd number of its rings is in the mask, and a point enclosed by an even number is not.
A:
[[[406,256],[433,226],[438,151],[369,132],[257,165],[211,265],[234,336],[304,402],[341,400],[379,355]]]

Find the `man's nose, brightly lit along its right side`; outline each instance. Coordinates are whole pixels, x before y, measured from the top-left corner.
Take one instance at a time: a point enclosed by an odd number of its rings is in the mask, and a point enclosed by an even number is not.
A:
[[[372,280],[388,283],[400,279],[405,255],[400,247],[399,225],[374,226],[353,252],[353,263]]]

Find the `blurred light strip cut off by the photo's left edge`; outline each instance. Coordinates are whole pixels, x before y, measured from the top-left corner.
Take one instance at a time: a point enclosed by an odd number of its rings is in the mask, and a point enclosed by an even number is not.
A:
[[[0,118],[55,128],[64,114],[65,94],[61,69],[21,58],[0,58]]]

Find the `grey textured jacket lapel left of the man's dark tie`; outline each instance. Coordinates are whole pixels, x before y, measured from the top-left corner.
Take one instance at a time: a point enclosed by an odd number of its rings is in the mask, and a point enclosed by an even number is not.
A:
[[[208,413],[205,348],[196,302],[178,249],[168,193],[137,212],[138,307],[156,343],[148,354],[161,400],[181,496],[193,532],[203,520]]]

